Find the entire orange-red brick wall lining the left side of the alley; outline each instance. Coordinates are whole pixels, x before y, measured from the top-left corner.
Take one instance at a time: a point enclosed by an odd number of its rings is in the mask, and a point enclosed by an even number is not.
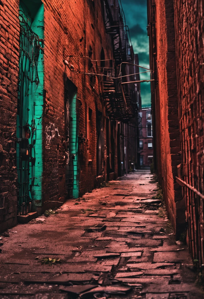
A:
[[[32,1],[32,0],[30,0]],[[28,1],[24,1],[29,5]],[[65,136],[65,85],[67,76],[77,89],[76,95],[76,135],[81,138],[79,142],[77,160],[79,181],[79,196],[95,187],[97,176],[97,132],[96,111],[102,114],[102,127],[100,131],[103,143],[102,167],[100,175],[107,179],[107,148],[106,148],[106,120],[109,119],[102,98],[103,79],[95,76],[90,80],[83,74],[88,70],[88,59],[92,52],[93,60],[101,59],[103,48],[105,67],[110,67],[108,59],[113,58],[112,39],[106,34],[103,20],[103,1],[71,0],[54,1],[42,0],[44,4],[44,84],[43,84],[43,115],[38,122],[42,123],[42,132],[38,132],[42,138],[43,147],[43,174],[42,179],[42,203],[35,207],[42,213],[56,202],[64,202],[67,192],[65,188],[66,165],[66,136]],[[0,120],[0,155],[1,159],[1,206],[5,198],[4,208],[0,206],[0,221],[7,228],[16,224],[17,215],[17,175],[16,175],[16,113],[17,113],[17,87],[19,64],[19,19],[18,1],[0,0],[1,20],[1,115]],[[70,58],[67,65],[63,60]],[[70,65],[73,66],[72,70]],[[98,62],[100,66],[100,62]],[[78,72],[80,70],[80,72]],[[41,84],[42,85],[42,84]],[[42,96],[42,93],[40,93]],[[34,105],[35,106],[35,105]],[[96,108],[97,107],[97,108]],[[35,107],[34,107],[35,108]],[[41,107],[38,107],[41,109]],[[92,110],[90,137],[87,138],[87,112]],[[75,120],[74,120],[75,121]],[[118,176],[117,138],[118,122],[109,120],[112,136],[112,158],[114,170],[112,177]],[[51,129],[50,129],[51,128]],[[50,130],[50,132],[48,132]],[[52,132],[51,132],[52,131]],[[47,136],[52,135],[47,142]],[[85,138],[85,140],[84,140]],[[89,153],[88,153],[89,150]],[[127,155],[128,157],[128,155]],[[38,165],[35,165],[36,173]],[[38,184],[36,184],[38,188]],[[35,200],[36,201],[36,200]]]

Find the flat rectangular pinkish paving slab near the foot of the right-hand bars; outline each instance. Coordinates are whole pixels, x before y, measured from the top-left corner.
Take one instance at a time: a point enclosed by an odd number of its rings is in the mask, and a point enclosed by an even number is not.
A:
[[[153,262],[182,262],[185,260],[185,255],[182,251],[167,251],[167,252],[155,252]]]

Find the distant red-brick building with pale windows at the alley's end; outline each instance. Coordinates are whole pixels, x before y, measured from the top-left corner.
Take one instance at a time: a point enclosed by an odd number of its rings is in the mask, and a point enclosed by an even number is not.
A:
[[[142,108],[139,111],[139,165],[140,167],[149,167],[153,161],[151,108]]]

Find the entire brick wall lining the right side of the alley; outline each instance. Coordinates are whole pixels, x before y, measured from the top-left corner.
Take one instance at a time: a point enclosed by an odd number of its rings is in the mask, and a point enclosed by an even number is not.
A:
[[[187,228],[192,257],[202,266],[203,1],[149,0],[148,18],[157,173],[177,237]]]

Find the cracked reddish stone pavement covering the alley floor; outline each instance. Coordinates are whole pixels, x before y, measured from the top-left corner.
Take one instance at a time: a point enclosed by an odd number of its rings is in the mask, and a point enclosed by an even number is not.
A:
[[[156,193],[140,170],[2,234],[0,298],[203,298]]]

